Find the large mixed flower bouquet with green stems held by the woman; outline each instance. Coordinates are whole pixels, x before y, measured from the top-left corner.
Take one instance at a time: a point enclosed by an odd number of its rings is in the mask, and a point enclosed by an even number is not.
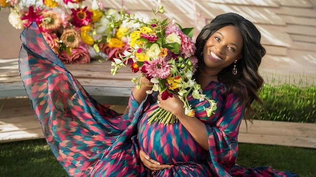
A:
[[[167,19],[161,21],[160,18],[155,18],[157,13],[164,13],[164,8],[153,11],[154,18],[149,21],[135,18],[134,15],[122,16],[123,24],[134,29],[129,39],[131,49],[120,55],[120,58],[114,58],[112,65],[115,68],[111,69],[112,74],[117,74],[118,69],[125,66],[126,60],[131,58],[132,71],[141,72],[139,77],[132,80],[138,83],[138,88],[141,85],[139,78],[145,76],[153,83],[152,90],[147,91],[148,94],[158,91],[163,100],[177,95],[184,103],[185,114],[191,117],[195,112],[188,103],[187,96],[192,92],[193,98],[200,101],[206,99],[209,102],[210,106],[204,108],[207,115],[214,114],[217,104],[205,97],[200,85],[192,79],[197,67],[195,45],[191,40],[193,28],[181,28]],[[172,124],[178,119],[170,112],[158,108],[149,115],[148,123],[155,121]]]

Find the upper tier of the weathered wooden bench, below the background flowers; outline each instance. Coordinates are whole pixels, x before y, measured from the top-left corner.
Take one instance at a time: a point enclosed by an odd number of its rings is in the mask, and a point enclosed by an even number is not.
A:
[[[137,77],[128,67],[111,74],[111,61],[93,61],[88,64],[67,64],[67,69],[79,80],[91,96],[104,104],[126,105]],[[25,89],[19,75],[18,59],[0,59],[0,98],[25,97]]]

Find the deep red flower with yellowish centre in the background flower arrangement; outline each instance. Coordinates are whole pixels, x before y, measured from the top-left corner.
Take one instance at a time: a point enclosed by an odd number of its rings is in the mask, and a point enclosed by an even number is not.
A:
[[[71,17],[72,21],[71,24],[73,24],[76,27],[82,27],[88,25],[92,19],[92,12],[87,11],[88,7],[85,7],[84,9],[71,9]]]

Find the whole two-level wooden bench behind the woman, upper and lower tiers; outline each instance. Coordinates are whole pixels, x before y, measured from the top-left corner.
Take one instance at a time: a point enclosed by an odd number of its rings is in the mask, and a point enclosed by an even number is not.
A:
[[[109,61],[66,67],[96,100],[115,105],[114,110],[123,112],[134,86],[131,79],[137,74],[126,67],[113,76]],[[0,112],[0,143],[43,138],[40,124],[25,98],[17,59],[0,60],[0,91],[0,98],[24,97],[8,99]],[[248,122],[246,128],[243,121],[239,142],[316,148],[316,124],[254,120],[253,125]]]

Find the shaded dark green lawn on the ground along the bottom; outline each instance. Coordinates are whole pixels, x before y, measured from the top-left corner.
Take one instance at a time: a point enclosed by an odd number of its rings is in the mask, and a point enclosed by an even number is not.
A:
[[[237,163],[316,176],[316,149],[240,143]],[[0,176],[68,176],[44,139],[0,144]]]

